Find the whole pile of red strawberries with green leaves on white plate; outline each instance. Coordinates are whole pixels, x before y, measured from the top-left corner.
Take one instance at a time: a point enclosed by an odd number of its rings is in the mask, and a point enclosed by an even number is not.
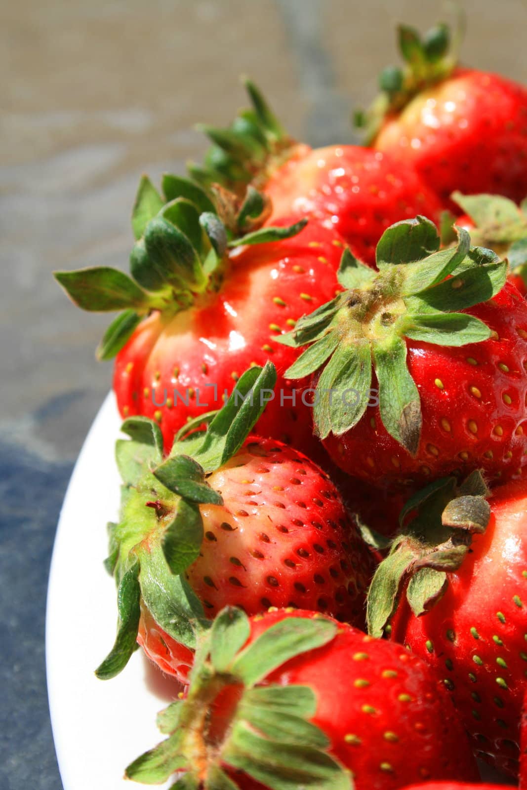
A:
[[[118,311],[97,675],[141,645],[175,678],[136,781],[527,774],[527,90],[445,25],[400,44],[367,147],[292,140],[247,82],[189,179],[141,179],[130,276],[55,275]]]

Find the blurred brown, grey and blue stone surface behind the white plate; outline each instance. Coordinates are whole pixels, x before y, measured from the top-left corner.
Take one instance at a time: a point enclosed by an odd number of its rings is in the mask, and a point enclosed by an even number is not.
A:
[[[2,790],[61,787],[44,676],[47,574],[73,463],[111,383],[111,366],[93,355],[107,319],[74,309],[52,270],[126,267],[141,172],[183,173],[199,159],[204,143],[192,125],[232,119],[244,103],[241,73],[265,89],[292,134],[313,145],[352,141],[350,108],[367,103],[376,74],[396,59],[393,24],[424,28],[441,8],[0,2]],[[527,81],[521,0],[465,8],[465,61]],[[64,649],[74,651],[68,623]]]

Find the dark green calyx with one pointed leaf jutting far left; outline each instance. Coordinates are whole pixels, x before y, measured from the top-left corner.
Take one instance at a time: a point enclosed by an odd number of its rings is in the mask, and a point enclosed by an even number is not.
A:
[[[229,250],[288,239],[307,222],[262,227],[269,212],[265,196],[253,186],[244,186],[239,196],[219,184],[205,190],[166,174],[161,196],[143,176],[132,214],[131,276],[106,266],[55,272],[83,310],[122,311],[104,334],[98,359],[115,356],[152,310],[175,314],[218,291],[228,273]]]

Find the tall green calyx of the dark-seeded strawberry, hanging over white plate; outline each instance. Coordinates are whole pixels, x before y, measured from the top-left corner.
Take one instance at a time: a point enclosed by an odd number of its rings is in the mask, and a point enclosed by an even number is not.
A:
[[[209,627],[185,578],[203,541],[199,506],[223,504],[207,476],[238,452],[276,381],[271,363],[250,368],[224,407],[209,415],[206,431],[189,423],[185,431],[190,434],[178,434],[166,458],[153,420],[130,417],[122,423],[129,438],[118,439],[115,446],[123,483],[121,512],[119,523],[108,526],[105,562],[118,588],[119,621],[115,645],[96,670],[99,678],[121,672],[136,649],[141,600],[156,623],[190,649]]]

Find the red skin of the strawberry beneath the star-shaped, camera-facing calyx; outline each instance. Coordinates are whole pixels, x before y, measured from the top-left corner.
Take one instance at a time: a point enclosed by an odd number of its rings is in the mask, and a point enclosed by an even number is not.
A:
[[[324,441],[345,472],[392,487],[476,468],[491,481],[522,475],[527,463],[525,300],[506,284],[494,299],[466,312],[498,337],[459,348],[407,341],[408,370],[423,414],[416,457],[387,433],[378,406],[372,405],[351,431],[329,434]]]

